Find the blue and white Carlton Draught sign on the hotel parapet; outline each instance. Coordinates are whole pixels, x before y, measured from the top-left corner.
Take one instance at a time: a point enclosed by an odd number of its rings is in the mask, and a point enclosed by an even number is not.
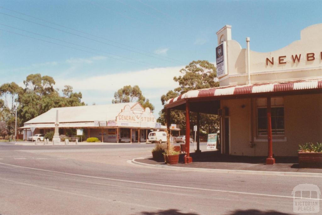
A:
[[[227,51],[226,42],[222,42],[216,47],[216,68],[217,77],[223,77],[227,75]]]

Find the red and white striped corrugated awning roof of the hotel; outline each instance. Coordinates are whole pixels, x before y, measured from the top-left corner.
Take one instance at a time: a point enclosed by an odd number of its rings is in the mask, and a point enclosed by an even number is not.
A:
[[[256,94],[281,91],[294,91],[305,89],[322,89],[322,79],[296,80],[283,82],[259,83],[252,85],[223,86],[208,89],[190,90],[180,96],[171,98],[166,102],[166,106],[188,98],[216,98],[229,95]]]

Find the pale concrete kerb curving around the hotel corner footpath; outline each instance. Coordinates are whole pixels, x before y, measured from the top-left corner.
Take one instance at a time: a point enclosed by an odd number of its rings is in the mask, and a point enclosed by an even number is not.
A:
[[[322,178],[322,173],[294,173],[294,172],[273,172],[273,171],[254,171],[254,170],[227,170],[227,169],[205,169],[205,168],[192,168],[192,167],[179,167],[160,164],[145,164],[136,159],[144,159],[148,157],[139,157],[131,160],[132,164],[146,166],[150,168],[163,168],[170,170],[194,171],[194,172],[207,172],[207,173],[237,173],[237,174],[255,174],[255,175],[280,175],[280,176],[301,176],[301,177],[319,177]]]

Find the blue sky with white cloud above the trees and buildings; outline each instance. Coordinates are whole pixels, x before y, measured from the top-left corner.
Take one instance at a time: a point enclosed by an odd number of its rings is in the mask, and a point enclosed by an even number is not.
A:
[[[321,9],[322,1],[294,0],[1,1],[0,84],[50,75],[56,88],[73,86],[89,105],[109,104],[119,88],[138,85],[157,117],[160,97],[177,87],[181,68],[214,62],[224,25],[232,25],[232,39],[243,48],[251,37],[251,50],[268,52],[322,23]]]

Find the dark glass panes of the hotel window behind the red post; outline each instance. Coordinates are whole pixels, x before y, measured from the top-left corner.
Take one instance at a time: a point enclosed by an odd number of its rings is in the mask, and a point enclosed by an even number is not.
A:
[[[271,108],[272,134],[284,135],[284,107]],[[267,108],[257,108],[258,135],[267,135]]]

